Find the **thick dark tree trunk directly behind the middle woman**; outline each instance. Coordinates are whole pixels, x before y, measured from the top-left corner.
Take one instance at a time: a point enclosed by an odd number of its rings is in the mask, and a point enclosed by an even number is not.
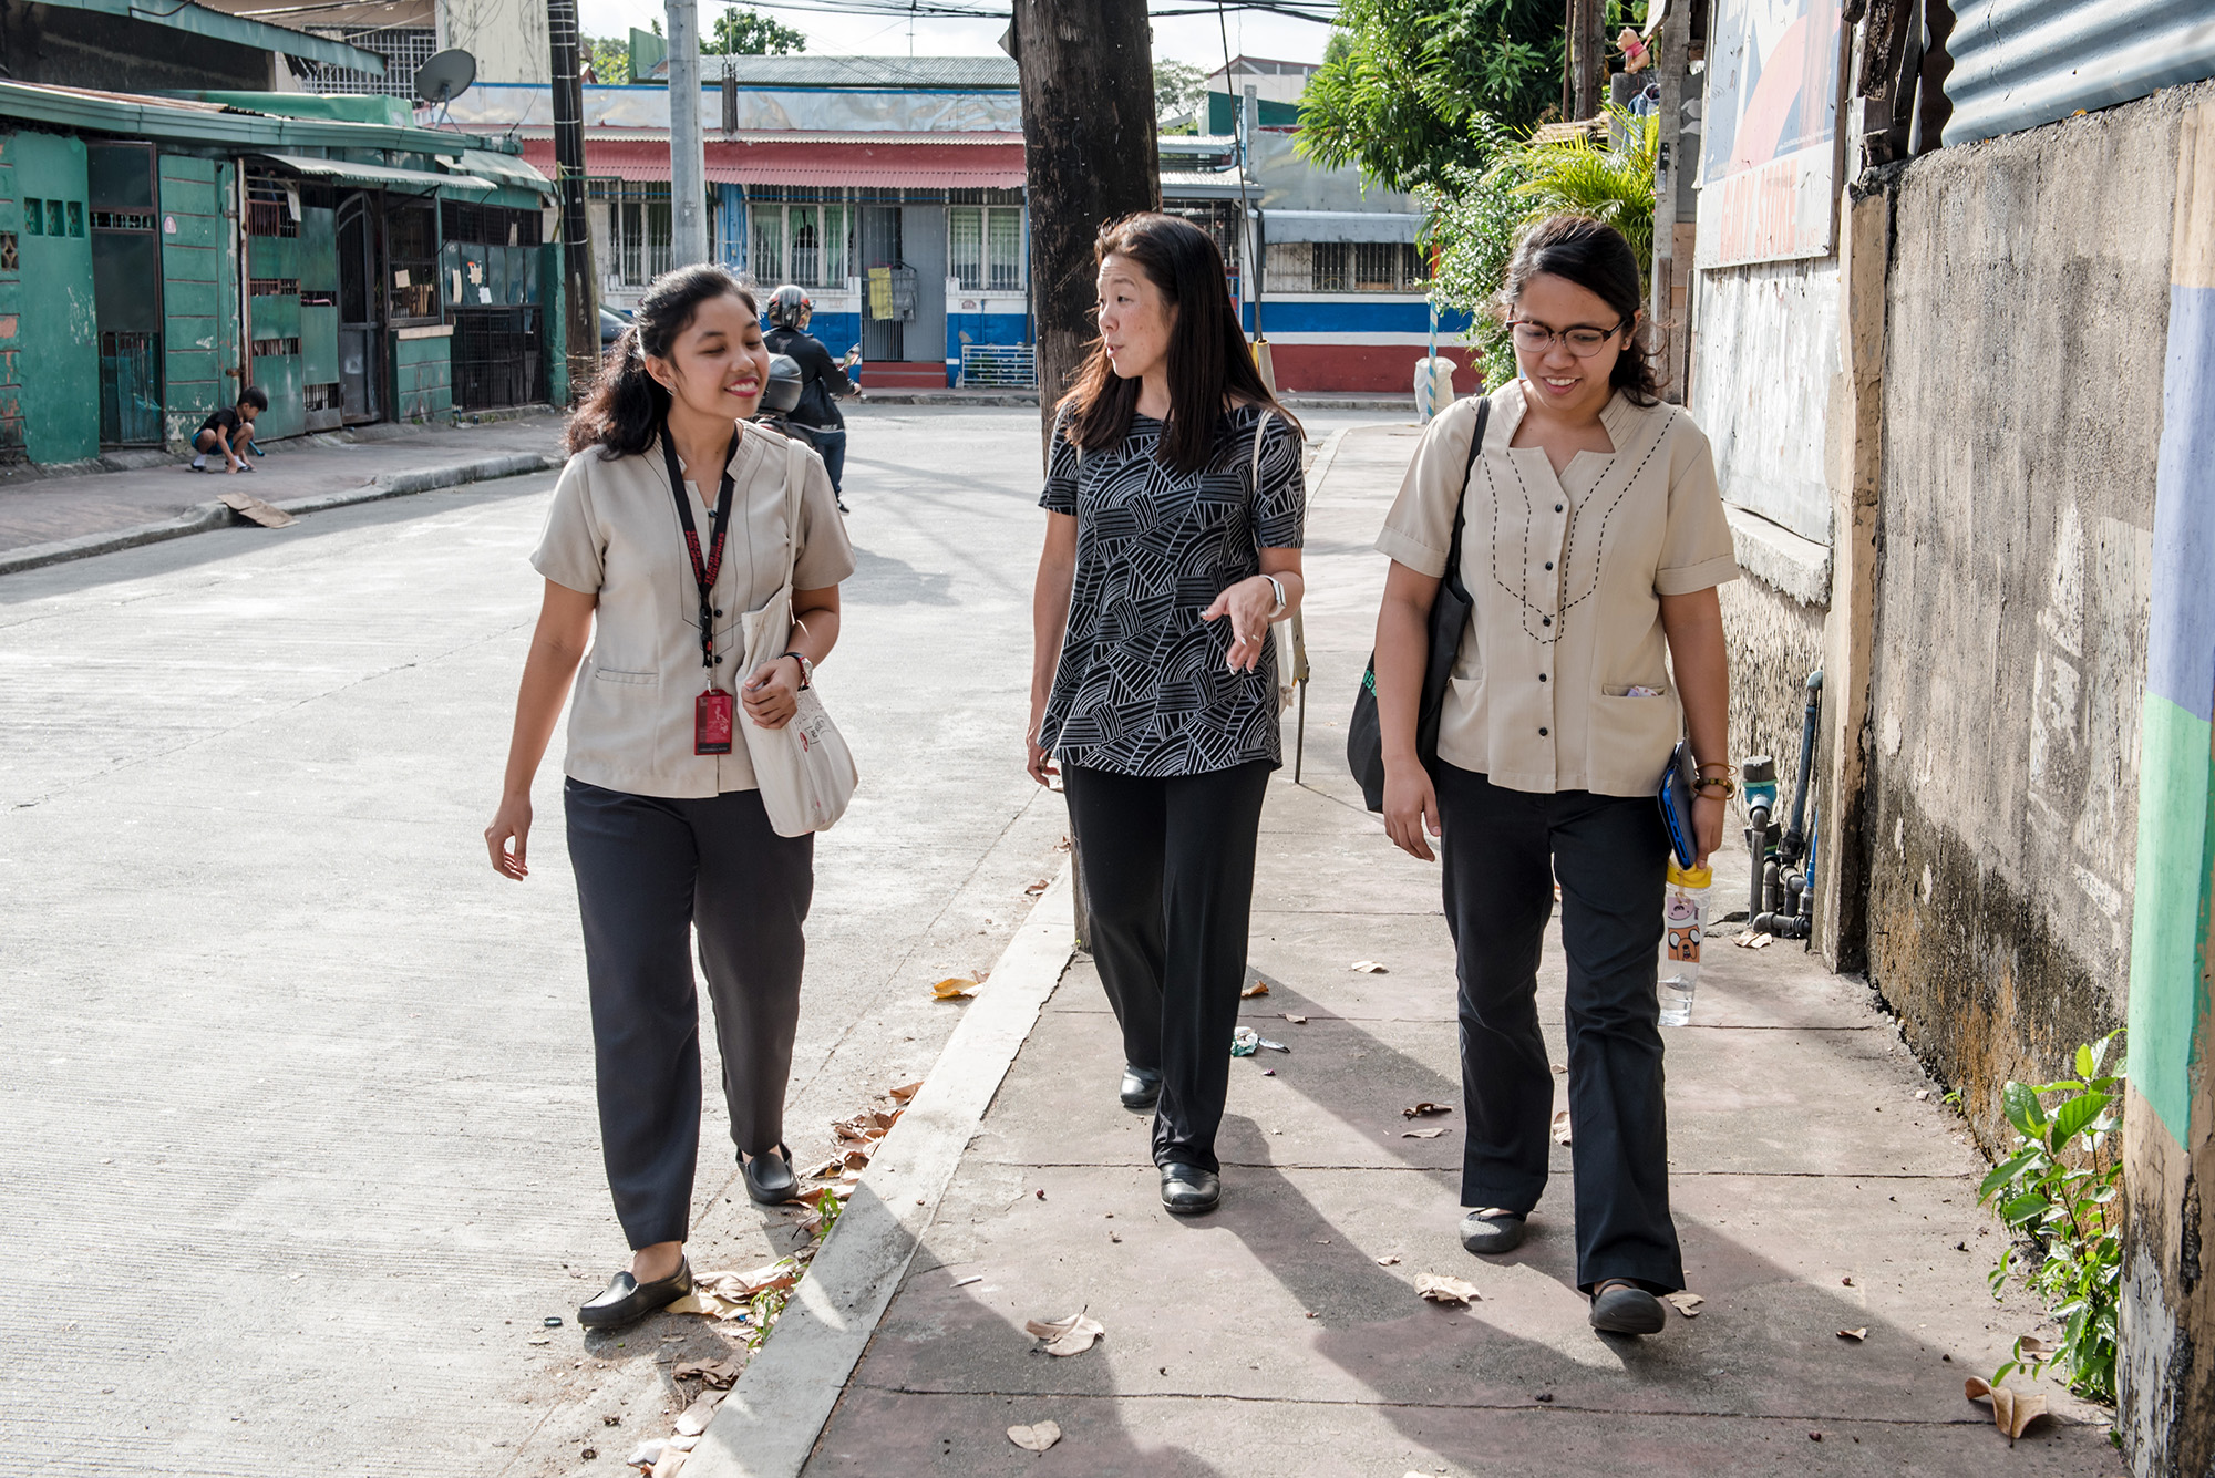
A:
[[[1041,436],[1094,336],[1092,241],[1161,208],[1154,40],[1145,0],[1014,0],[1037,303]]]

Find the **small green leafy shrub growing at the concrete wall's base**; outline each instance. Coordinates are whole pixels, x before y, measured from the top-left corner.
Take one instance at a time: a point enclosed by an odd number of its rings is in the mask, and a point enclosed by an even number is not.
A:
[[[2058,1367],[2069,1389],[2115,1403],[2115,1319],[2122,1301],[2122,1162],[2104,1155],[2122,1124],[2124,1069],[2104,1071],[2122,1031],[2075,1049],[2075,1078],[2047,1084],[2009,1082],[2000,1108],[2016,1126],[2016,1153],[1991,1168],[1978,1201],[1998,1204],[2020,1239],[1991,1270],[1998,1299],[2009,1274],[2047,1301],[2062,1323],[2051,1352],[2025,1350],[1991,1376],[2044,1374]],[[2051,1106],[2047,1095],[2060,1095]],[[2071,1164],[2075,1159],[2075,1164]]]

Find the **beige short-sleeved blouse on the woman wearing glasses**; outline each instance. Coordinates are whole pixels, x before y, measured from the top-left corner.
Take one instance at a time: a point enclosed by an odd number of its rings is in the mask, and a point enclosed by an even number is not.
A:
[[[1493,392],[1469,473],[1473,608],[1438,757],[1508,790],[1652,794],[1683,726],[1661,597],[1739,577],[1708,438],[1675,405],[1617,394],[1599,414],[1615,451],[1579,451],[1557,478],[1542,447],[1508,447],[1522,416],[1522,381]],[[1424,575],[1446,573],[1475,420],[1471,398],[1431,423],[1378,535]]]

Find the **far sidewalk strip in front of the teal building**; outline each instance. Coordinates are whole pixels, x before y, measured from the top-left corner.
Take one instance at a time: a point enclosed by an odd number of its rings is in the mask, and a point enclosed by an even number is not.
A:
[[[186,458],[124,471],[18,476],[0,482],[0,573],[155,544],[233,522],[222,493],[288,513],[392,498],[558,465],[563,416],[483,425],[363,427],[266,443],[253,473],[195,473]],[[140,460],[133,456],[131,460]]]

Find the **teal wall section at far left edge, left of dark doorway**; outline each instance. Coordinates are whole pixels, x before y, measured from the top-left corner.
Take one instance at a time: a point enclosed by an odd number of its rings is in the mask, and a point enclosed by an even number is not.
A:
[[[100,330],[93,319],[93,241],[84,201],[84,144],[18,133],[7,144],[20,228],[24,451],[33,462],[100,456]],[[38,230],[31,208],[38,206]]]

